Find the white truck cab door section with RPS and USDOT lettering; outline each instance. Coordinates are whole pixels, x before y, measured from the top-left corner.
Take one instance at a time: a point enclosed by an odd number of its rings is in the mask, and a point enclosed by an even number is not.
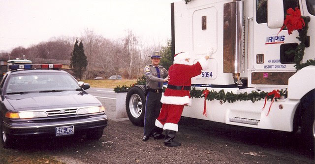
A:
[[[296,6],[299,7],[298,0],[284,0],[284,13],[286,14],[288,8],[295,9]],[[280,29],[268,28],[267,0],[254,0],[254,7],[249,84],[250,86],[287,85],[287,78],[293,74],[295,67],[294,56],[292,58],[292,55],[287,56],[284,52],[298,45],[299,41],[296,39],[298,32],[294,31],[289,35],[285,29],[279,33]],[[285,78],[279,81],[279,75]]]

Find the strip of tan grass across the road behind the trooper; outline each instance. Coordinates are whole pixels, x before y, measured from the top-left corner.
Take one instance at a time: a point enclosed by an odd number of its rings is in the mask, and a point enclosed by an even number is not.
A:
[[[130,86],[134,83],[136,83],[136,79],[128,80],[128,79],[122,79],[122,80],[83,80],[85,83],[89,83],[91,87],[93,88],[115,88],[116,86]]]

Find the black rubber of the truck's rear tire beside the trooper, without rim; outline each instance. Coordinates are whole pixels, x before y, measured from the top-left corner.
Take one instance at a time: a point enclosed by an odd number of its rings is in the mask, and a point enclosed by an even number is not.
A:
[[[131,111],[129,108],[130,98],[134,94],[138,95],[141,99],[141,102],[142,102],[142,111],[141,111],[141,114],[139,115],[139,117],[134,117],[131,114]],[[126,112],[127,112],[129,120],[135,126],[140,126],[140,127],[143,126],[144,113],[145,113],[145,101],[146,101],[146,95],[145,95],[145,87],[143,85],[135,85],[129,89],[127,96],[126,96]]]

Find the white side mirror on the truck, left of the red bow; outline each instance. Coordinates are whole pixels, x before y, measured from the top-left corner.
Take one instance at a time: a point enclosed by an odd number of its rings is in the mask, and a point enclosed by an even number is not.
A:
[[[270,29],[278,29],[284,25],[284,1],[267,1],[267,21]]]

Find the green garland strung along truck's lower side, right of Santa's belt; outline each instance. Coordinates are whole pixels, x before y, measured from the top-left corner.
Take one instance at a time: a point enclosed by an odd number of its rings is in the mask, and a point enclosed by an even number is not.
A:
[[[206,88],[207,89],[207,88]],[[194,87],[190,91],[190,97],[191,98],[203,98],[203,91],[204,90],[196,90]],[[258,101],[262,98],[265,98],[267,96],[267,92],[261,91],[256,92],[252,91],[251,93],[240,93],[240,94],[233,94],[233,92],[224,92],[224,90],[217,91],[209,91],[209,95],[207,96],[207,100],[222,100],[223,102],[235,102],[235,101],[247,101],[251,100],[252,102]],[[287,97],[287,91],[281,90],[280,96],[286,98]],[[267,96],[267,99],[274,98],[274,95]],[[279,98],[276,98],[276,100]]]

